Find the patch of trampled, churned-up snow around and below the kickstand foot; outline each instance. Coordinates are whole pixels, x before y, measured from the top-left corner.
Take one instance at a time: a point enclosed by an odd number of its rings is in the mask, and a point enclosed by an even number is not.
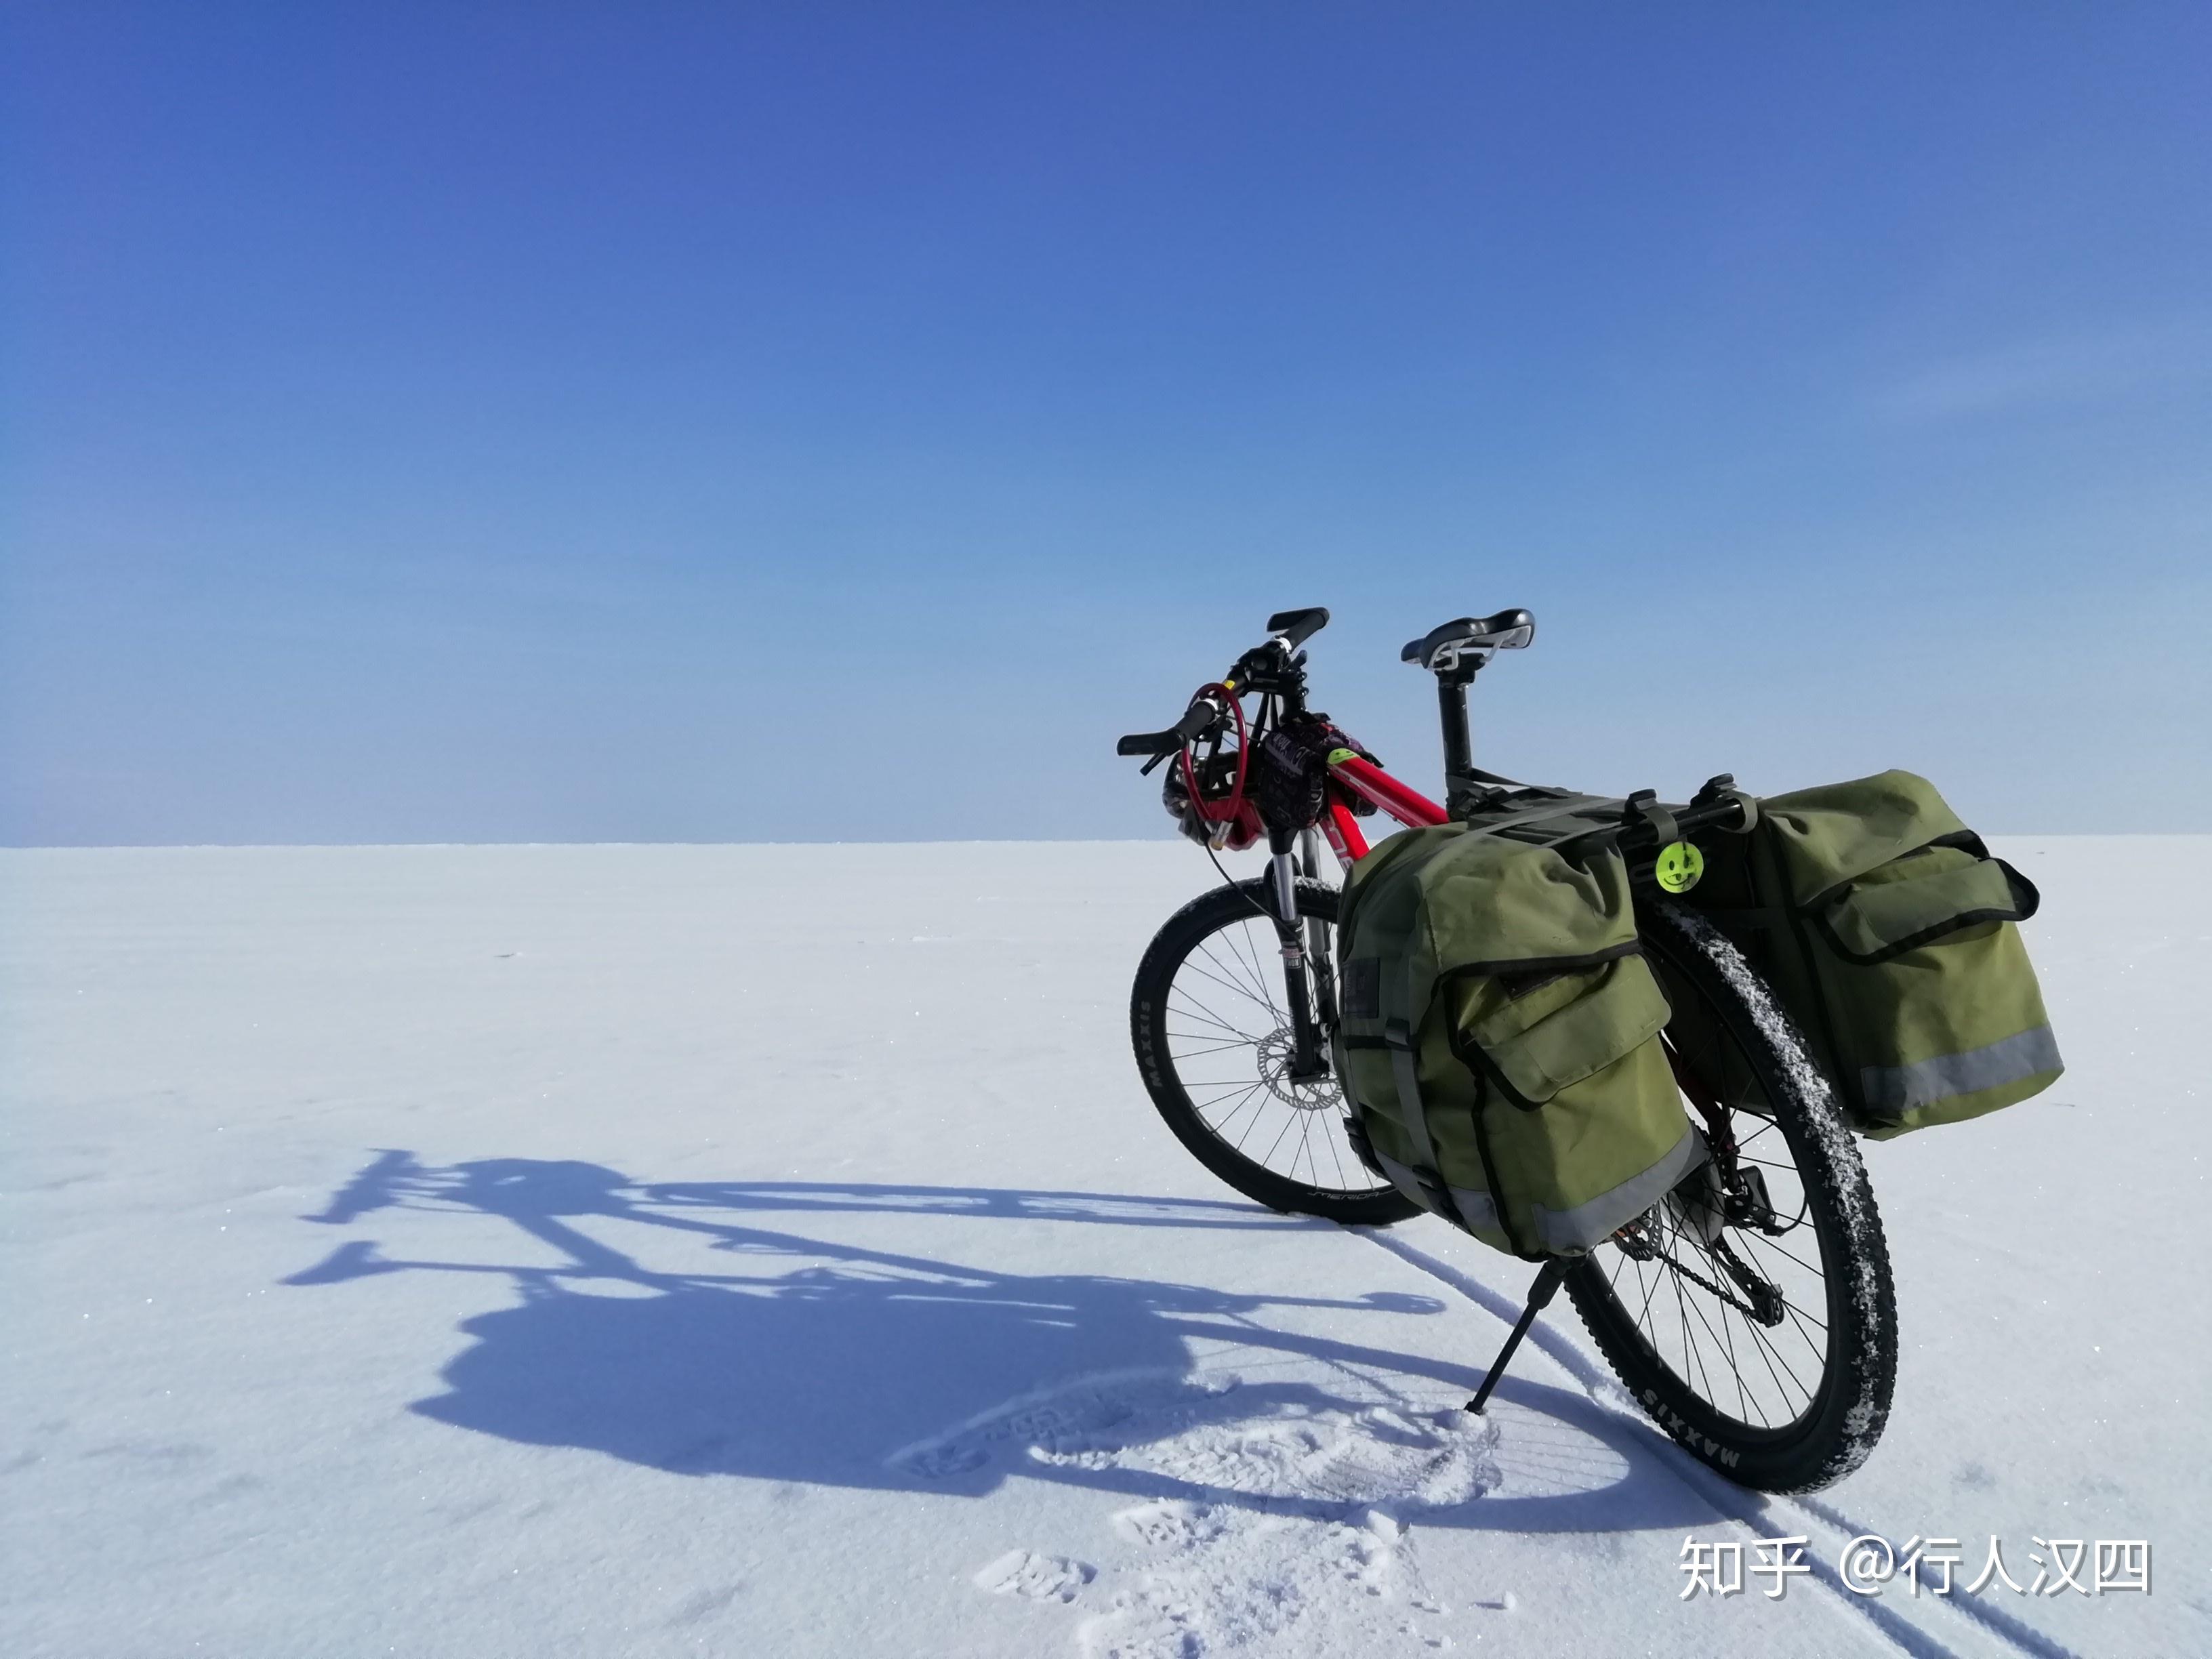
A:
[[[1500,1453],[1500,1422],[1455,1405],[1363,1402],[1292,1378],[1128,1374],[1024,1396],[898,1462],[960,1471],[1006,1458],[1181,1486],[1113,1509],[1095,1542],[1119,1548],[1099,1566],[1018,1548],[975,1584],[1033,1604],[1079,1597],[1088,1617],[1071,1635],[1091,1659],[1194,1659],[1285,1641],[1298,1652],[1449,1648],[1449,1608],[1425,1582],[1416,1528],[1498,1491]]]

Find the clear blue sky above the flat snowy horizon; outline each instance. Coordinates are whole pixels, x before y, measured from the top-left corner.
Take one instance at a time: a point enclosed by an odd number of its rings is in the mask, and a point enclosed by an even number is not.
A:
[[[13,4],[0,841],[1166,832],[1478,757],[2212,807],[2212,13]]]

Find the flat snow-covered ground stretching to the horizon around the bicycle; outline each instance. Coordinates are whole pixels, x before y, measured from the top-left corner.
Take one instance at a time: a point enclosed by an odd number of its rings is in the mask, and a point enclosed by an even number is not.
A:
[[[0,854],[0,1652],[2212,1652],[2212,838],[2002,849],[2070,1073],[1867,1148],[1896,1416],[1809,1502],[1564,1301],[1467,1420],[1528,1267],[1181,1152],[1179,843]]]

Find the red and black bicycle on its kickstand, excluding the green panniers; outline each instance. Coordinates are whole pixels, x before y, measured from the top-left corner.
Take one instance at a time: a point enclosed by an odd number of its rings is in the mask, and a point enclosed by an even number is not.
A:
[[[1329,1066],[1338,889],[1323,878],[1323,845],[1349,872],[1369,849],[1360,821],[1378,812],[1422,827],[1526,799],[1528,785],[1473,765],[1467,688],[1495,653],[1533,641],[1535,617],[1458,617],[1400,653],[1436,675],[1447,805],[1307,708],[1303,644],[1327,619],[1276,613],[1267,641],[1201,686],[1181,721],[1117,745],[1148,757],[1146,774],[1170,765],[1166,805],[1217,867],[1223,847],[1267,843],[1259,880],[1223,869],[1221,887],[1152,938],[1130,1042],[1168,1128],[1228,1186],[1272,1210],[1380,1228],[1420,1206],[1347,1135]],[[1889,1418],[1896,1294],[1829,1082],[1743,956],[1652,880],[1661,836],[1741,823],[1730,783],[1712,779],[1679,807],[1630,796],[1617,834],[1637,876],[1639,940],[1674,1009],[1661,1042],[1712,1161],[1590,1254],[1546,1263],[1469,1405],[1482,1409],[1564,1285],[1630,1396],[1692,1455],[1743,1486],[1814,1491],[1863,1464]],[[1677,1042],[1692,1022],[1701,1042]],[[1692,1051],[1725,1075],[1703,1075]]]

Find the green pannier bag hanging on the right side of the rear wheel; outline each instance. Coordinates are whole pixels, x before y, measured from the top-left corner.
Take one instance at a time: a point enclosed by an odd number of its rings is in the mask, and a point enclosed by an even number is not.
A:
[[[1980,1117],[2057,1079],[2015,927],[2035,887],[1927,779],[1776,794],[1750,834],[1701,845],[1688,902],[1774,987],[1865,1135]]]

